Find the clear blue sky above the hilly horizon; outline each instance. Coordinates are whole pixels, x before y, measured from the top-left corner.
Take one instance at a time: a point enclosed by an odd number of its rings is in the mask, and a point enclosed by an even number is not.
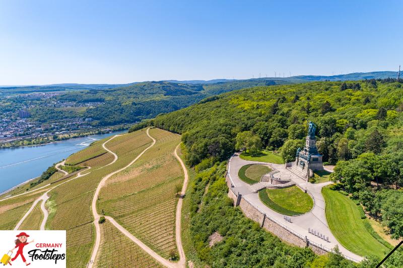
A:
[[[0,84],[397,70],[403,1],[0,2]]]

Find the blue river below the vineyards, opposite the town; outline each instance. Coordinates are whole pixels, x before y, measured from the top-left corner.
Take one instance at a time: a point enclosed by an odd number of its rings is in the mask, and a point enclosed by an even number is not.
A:
[[[0,149],[0,193],[40,176],[53,163],[100,140],[127,130],[58,141],[38,146]]]

